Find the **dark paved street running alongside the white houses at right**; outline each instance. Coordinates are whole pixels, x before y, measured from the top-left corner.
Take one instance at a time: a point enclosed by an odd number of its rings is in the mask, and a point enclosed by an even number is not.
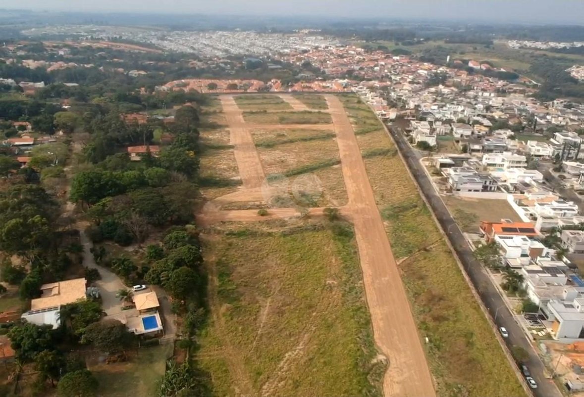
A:
[[[538,384],[538,388],[534,390],[534,395],[540,397],[561,397],[561,393],[554,382],[544,377],[544,365],[534,351],[533,346],[531,346],[527,336],[523,333],[523,329],[517,324],[509,310],[507,310],[503,298],[499,295],[498,290],[492,284],[491,279],[489,279],[482,266],[475,261],[463,233],[458,229],[456,222],[450,216],[442,199],[440,199],[440,196],[434,190],[432,182],[427,177],[422,168],[422,164],[418,160],[418,156],[416,156],[408,145],[404,135],[391,129],[390,132],[398,145],[399,151],[406,159],[407,166],[412,171],[416,181],[418,181],[430,206],[432,206],[434,214],[440,224],[442,224],[443,230],[447,231],[449,240],[454,250],[456,250],[460,261],[463,263],[465,272],[477,289],[485,307],[491,313],[495,324],[499,327],[504,326],[509,331],[509,338],[506,339],[507,346],[522,346],[529,352],[530,357],[526,364]]]

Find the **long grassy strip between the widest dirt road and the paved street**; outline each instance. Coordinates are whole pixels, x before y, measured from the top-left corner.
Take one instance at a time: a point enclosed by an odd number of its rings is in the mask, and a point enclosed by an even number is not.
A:
[[[383,140],[395,149],[390,138]],[[439,396],[524,391],[398,155],[366,159]]]

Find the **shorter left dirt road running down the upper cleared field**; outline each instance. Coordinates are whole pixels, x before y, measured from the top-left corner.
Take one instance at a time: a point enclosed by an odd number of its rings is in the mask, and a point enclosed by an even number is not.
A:
[[[242,111],[239,110],[233,96],[222,95],[219,98],[229,126],[230,143],[234,146],[235,161],[237,161],[244,188],[259,188],[262,186],[265,175],[252,134],[244,123]],[[241,167],[241,164],[245,164],[245,167]]]

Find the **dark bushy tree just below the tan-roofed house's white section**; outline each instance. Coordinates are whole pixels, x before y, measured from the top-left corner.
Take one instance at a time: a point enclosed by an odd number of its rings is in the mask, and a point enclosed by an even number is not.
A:
[[[51,350],[54,346],[52,325],[35,325],[29,322],[15,325],[8,332],[8,338],[16,357],[23,362],[31,361],[37,353]]]

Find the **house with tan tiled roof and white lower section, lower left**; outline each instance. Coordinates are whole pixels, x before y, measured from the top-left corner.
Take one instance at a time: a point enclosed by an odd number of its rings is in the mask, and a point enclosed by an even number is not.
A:
[[[23,313],[22,318],[32,324],[58,328],[61,325],[61,306],[85,299],[85,284],[85,278],[43,284],[41,297],[30,301],[30,310]]]

